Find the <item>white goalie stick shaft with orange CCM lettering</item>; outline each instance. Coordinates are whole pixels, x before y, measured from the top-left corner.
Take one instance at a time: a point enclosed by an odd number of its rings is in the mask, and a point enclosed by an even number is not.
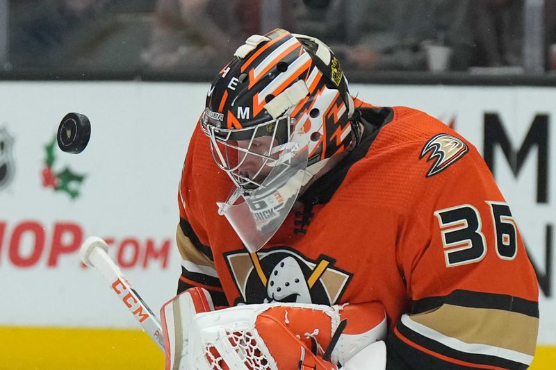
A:
[[[106,254],[108,245],[99,237],[89,237],[79,251],[81,260],[90,267],[96,267],[106,280],[111,284],[115,294],[122,300],[133,316],[139,321],[140,326],[154,340],[164,352],[161,323],[149,308],[147,303],[131,287],[124,278],[120,267]]]

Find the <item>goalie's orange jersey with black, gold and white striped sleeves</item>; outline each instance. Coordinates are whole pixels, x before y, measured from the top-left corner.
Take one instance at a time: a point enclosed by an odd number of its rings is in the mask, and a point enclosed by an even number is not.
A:
[[[381,301],[388,369],[525,369],[538,289],[480,153],[437,119],[365,106],[361,144],[249,253],[217,213],[231,181],[197,127],[179,187],[179,292],[215,305]]]

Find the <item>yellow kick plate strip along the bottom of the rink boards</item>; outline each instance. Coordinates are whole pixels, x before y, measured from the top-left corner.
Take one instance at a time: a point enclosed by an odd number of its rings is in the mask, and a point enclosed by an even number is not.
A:
[[[161,370],[164,356],[149,336],[131,329],[0,328],[10,338],[0,358],[10,370]],[[554,370],[556,347],[537,346],[532,370]],[[7,366],[9,365],[9,366]]]

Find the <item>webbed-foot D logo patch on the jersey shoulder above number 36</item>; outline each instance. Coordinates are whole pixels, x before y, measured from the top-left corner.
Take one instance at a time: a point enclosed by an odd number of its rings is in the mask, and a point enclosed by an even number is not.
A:
[[[435,135],[423,146],[419,159],[430,153],[427,162],[434,160],[426,177],[438,174],[447,169],[469,151],[467,145],[457,137],[441,133]]]

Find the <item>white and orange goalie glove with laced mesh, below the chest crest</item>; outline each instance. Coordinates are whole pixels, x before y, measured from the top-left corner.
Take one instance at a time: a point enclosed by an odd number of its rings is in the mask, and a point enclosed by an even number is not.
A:
[[[166,370],[386,367],[386,315],[378,302],[265,303],[214,311],[191,288],[161,308]]]

